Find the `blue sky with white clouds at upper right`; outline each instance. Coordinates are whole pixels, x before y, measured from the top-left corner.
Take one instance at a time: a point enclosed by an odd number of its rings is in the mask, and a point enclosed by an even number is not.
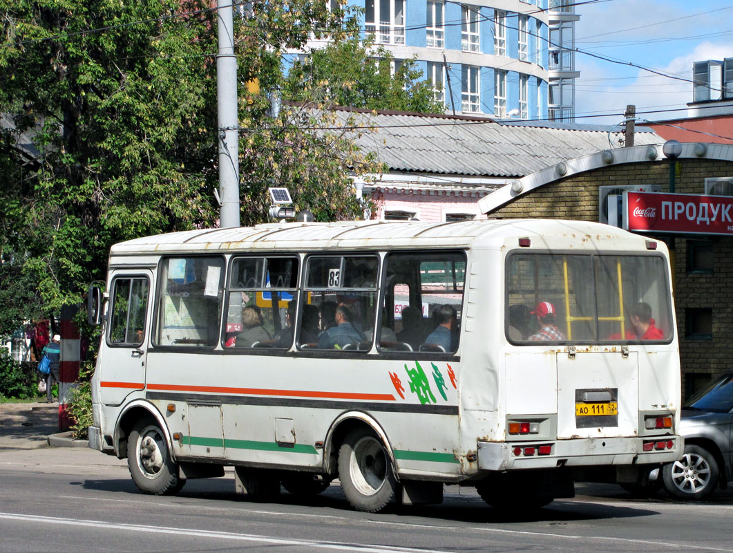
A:
[[[733,0],[595,0],[575,12],[581,16],[575,47],[621,62],[576,52],[578,123],[614,125],[623,120],[627,104],[648,120],[685,117],[685,104],[693,100],[693,62],[733,57]],[[659,111],[679,108],[685,111]],[[606,116],[583,117],[597,114]]]

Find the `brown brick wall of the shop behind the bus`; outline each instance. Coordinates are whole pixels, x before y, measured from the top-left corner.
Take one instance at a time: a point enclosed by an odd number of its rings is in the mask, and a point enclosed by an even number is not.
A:
[[[706,177],[733,177],[733,163],[683,159],[675,166],[675,191],[703,194]],[[606,185],[658,184],[668,191],[667,161],[619,164],[556,180],[489,214],[490,218],[551,218],[598,220],[598,187]],[[714,252],[712,274],[688,272],[688,241],[710,238]],[[669,243],[670,241],[667,240]],[[733,368],[733,237],[696,236],[674,239],[675,304],[679,353],[682,361],[682,392]],[[685,338],[685,310],[712,310],[712,339]],[[687,376],[689,375],[689,378]]]

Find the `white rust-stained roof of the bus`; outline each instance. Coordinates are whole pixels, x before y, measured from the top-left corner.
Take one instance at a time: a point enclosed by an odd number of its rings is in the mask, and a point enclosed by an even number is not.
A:
[[[117,243],[110,255],[180,252],[277,251],[292,249],[373,249],[409,246],[497,247],[508,238],[530,238],[533,246],[636,250],[644,238],[589,221],[497,219],[428,223],[421,221],[342,221],[259,224],[256,227],[171,232]],[[564,246],[563,246],[564,244]]]

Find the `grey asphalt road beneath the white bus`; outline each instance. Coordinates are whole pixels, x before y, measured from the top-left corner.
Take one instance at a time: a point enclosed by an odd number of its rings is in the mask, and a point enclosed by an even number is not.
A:
[[[472,488],[442,505],[357,513],[332,485],[310,501],[234,494],[234,478],[140,494],[125,461],[78,448],[0,451],[0,552],[733,552],[733,494],[707,502],[631,499],[578,486],[575,499],[512,518]]]

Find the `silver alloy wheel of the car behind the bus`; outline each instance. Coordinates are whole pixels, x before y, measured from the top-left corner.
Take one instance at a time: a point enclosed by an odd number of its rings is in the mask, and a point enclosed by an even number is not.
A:
[[[674,497],[703,499],[718,486],[718,462],[704,447],[687,444],[679,461],[663,467],[662,477],[664,487]]]

